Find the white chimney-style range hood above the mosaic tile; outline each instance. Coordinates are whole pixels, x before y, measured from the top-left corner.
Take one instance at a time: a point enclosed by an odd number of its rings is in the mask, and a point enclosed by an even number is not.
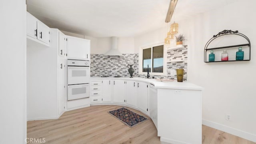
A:
[[[120,56],[121,58],[124,57],[121,54],[121,52],[119,52],[119,50],[118,50],[118,38],[117,37],[114,37],[114,36],[111,37],[111,48],[104,55],[106,55],[106,56]]]

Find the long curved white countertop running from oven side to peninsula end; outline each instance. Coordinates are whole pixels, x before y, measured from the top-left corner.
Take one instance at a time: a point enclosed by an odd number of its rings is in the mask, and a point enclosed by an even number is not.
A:
[[[198,86],[196,84],[192,84],[187,81],[183,82],[159,82],[156,79],[152,78],[141,78],[141,77],[134,77],[134,78],[129,78],[129,77],[119,77],[119,78],[114,78],[114,77],[90,77],[91,80],[96,80],[96,79],[120,79],[120,80],[136,80],[136,81],[141,81],[141,82],[147,82],[150,84],[153,84],[155,88],[171,88],[171,89],[182,89],[182,90],[203,90],[201,86]]]

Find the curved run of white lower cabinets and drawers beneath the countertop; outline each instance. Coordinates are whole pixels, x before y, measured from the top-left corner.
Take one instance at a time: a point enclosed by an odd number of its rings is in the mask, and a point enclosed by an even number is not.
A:
[[[149,113],[149,88],[146,82],[120,79],[91,79],[91,104],[116,103]]]

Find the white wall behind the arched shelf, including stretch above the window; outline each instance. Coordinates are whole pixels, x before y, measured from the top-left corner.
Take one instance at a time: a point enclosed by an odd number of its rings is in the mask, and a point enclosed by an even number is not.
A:
[[[255,0],[234,2],[225,7],[177,22],[188,45],[188,81],[203,86],[203,124],[256,142],[256,50]],[[238,30],[251,42],[251,60],[204,63],[204,46],[222,30]],[[136,36],[135,49],[166,37],[166,28]],[[244,40],[241,40],[241,42]],[[173,41],[172,41],[173,42]],[[242,43],[243,43],[242,42]],[[232,44],[238,42],[232,41]],[[135,52],[136,53],[136,52]],[[226,114],[231,115],[227,121]]]

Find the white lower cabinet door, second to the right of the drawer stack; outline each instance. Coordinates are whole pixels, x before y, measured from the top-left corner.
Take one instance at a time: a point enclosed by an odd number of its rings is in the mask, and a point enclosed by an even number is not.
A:
[[[113,81],[113,102],[114,103],[124,103],[124,90],[125,81],[124,80],[114,80]]]

